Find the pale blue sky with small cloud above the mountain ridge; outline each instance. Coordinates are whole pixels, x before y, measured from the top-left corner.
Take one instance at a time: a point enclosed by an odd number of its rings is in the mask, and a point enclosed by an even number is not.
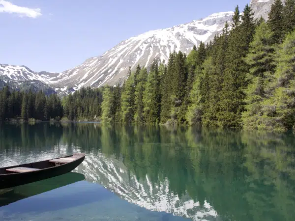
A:
[[[0,0],[0,63],[61,72],[129,37],[250,0]]]

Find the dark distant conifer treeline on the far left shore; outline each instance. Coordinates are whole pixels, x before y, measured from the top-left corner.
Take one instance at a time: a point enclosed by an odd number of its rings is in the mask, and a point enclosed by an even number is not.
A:
[[[59,120],[62,106],[56,94],[46,96],[43,91],[10,91],[6,86],[0,91],[0,120],[21,118],[29,120]]]

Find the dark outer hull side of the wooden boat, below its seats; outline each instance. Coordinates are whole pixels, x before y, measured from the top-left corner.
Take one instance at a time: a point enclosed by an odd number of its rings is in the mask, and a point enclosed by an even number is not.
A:
[[[6,189],[11,187],[16,187],[28,183],[33,183],[36,181],[48,179],[51,177],[59,176],[68,172],[71,172],[77,166],[79,166],[85,159],[85,155],[73,162],[63,164],[60,166],[53,166],[49,168],[44,168],[32,172],[22,172],[22,173],[11,173],[0,175],[0,189]],[[48,161],[38,162],[39,165],[42,163],[47,163]],[[27,166],[25,164],[22,166]],[[9,168],[9,167],[6,167]],[[5,168],[3,168],[5,169]]]

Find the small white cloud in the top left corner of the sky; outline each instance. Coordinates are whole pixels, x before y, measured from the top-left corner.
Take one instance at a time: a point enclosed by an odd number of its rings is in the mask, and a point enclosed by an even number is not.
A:
[[[20,17],[37,18],[42,15],[40,8],[27,8],[12,4],[6,0],[0,0],[0,12],[16,13]]]

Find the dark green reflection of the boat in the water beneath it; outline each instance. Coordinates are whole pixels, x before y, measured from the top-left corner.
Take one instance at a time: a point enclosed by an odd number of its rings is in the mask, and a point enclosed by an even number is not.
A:
[[[38,182],[1,190],[0,207],[82,180],[85,180],[85,176],[83,174],[77,172],[69,172],[60,176],[52,177],[50,179],[45,179]]]

